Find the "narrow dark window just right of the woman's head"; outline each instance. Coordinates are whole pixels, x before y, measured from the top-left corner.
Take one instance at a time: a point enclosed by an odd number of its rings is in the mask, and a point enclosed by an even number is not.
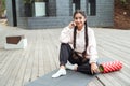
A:
[[[88,14],[91,16],[96,15],[96,1],[88,0]]]

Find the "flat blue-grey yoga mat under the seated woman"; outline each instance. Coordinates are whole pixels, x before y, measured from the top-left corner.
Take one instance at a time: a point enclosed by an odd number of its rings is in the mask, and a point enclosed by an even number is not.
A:
[[[99,63],[112,61],[110,58],[100,58]],[[57,70],[54,70],[38,80],[30,82],[25,86],[87,86],[90,81],[96,75],[88,75],[80,72],[75,72],[67,70],[67,74],[65,76],[61,76],[57,78],[52,78],[52,74],[54,74]]]

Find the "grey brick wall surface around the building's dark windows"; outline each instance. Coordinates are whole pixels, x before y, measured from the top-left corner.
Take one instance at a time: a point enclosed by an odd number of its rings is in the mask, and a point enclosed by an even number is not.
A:
[[[21,0],[17,1],[17,26],[29,29],[61,28],[73,19],[72,0],[49,0],[49,16],[23,17]],[[10,4],[11,0],[8,1]],[[81,10],[87,11],[87,0],[81,0]],[[55,3],[55,4],[53,4]],[[11,8],[8,8],[11,12]],[[9,11],[8,10],[8,11]],[[96,0],[96,15],[88,16],[88,25],[93,27],[113,26],[114,0]],[[11,15],[9,22],[12,24]]]

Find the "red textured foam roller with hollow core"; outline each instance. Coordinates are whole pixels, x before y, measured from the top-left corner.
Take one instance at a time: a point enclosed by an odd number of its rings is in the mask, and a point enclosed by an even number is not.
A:
[[[121,68],[122,68],[122,63],[118,60],[114,60],[114,61],[109,61],[109,62],[103,62],[99,67],[101,73],[119,71]]]

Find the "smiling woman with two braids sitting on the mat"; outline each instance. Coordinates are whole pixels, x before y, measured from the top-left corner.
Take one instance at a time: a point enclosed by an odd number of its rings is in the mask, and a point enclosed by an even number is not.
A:
[[[94,32],[87,26],[83,11],[74,13],[74,22],[63,29],[60,41],[60,70],[52,77],[66,75],[66,69],[91,75],[99,72]]]

